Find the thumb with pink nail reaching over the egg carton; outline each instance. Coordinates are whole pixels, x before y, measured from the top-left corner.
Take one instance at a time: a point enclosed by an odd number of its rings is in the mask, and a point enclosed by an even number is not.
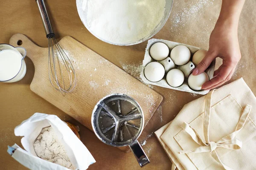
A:
[[[216,58],[215,53],[208,51],[204,59],[202,59],[202,61],[196,66],[192,74],[196,76],[198,74],[203,73],[215,58]]]

